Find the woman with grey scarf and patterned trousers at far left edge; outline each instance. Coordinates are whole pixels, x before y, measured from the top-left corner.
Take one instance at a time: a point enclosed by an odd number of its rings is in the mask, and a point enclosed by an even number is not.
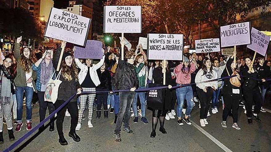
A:
[[[12,68],[13,57],[7,55],[4,60],[0,59],[0,142],[3,139],[3,119],[6,120],[8,135],[11,140],[15,139],[12,127],[11,109],[13,106],[13,95],[15,93],[14,78],[16,69]]]

